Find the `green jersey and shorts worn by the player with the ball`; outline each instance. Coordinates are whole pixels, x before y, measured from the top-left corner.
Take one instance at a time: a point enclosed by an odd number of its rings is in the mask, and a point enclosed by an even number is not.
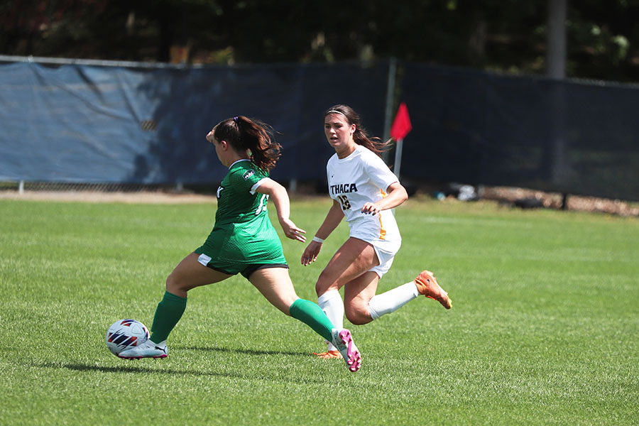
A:
[[[195,251],[207,256],[207,266],[246,275],[256,266],[286,265],[279,236],[268,218],[268,195],[256,192],[265,178],[268,174],[251,160],[236,161],[229,168],[217,190],[213,230]]]

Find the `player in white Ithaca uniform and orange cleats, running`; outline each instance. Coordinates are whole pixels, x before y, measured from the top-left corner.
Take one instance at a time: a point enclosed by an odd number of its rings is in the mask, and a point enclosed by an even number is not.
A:
[[[333,205],[302,253],[302,265],[317,260],[324,239],[346,217],[349,239],[331,258],[315,285],[317,304],[335,327],[342,327],[344,312],[353,324],[367,324],[425,295],[446,309],[452,307],[430,271],[386,293],[376,295],[379,279],[391,268],[402,242],[391,209],[405,202],[408,194],[379,154],[388,145],[371,138],[359,116],[346,105],[335,105],[324,113],[324,133],[335,153],[327,164],[329,195]],[[339,289],[344,287],[344,301]],[[341,357],[327,341],[322,358]]]

